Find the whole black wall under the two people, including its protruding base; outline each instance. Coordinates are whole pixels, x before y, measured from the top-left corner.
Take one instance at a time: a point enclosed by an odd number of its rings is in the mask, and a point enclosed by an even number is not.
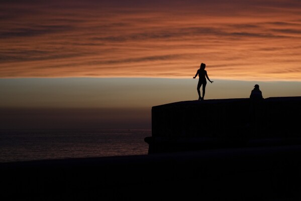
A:
[[[301,97],[182,101],[152,107],[149,154],[300,144]]]

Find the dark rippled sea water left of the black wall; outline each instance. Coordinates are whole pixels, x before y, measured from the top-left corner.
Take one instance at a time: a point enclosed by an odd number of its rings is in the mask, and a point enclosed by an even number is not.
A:
[[[0,162],[145,155],[151,129],[0,130]]]

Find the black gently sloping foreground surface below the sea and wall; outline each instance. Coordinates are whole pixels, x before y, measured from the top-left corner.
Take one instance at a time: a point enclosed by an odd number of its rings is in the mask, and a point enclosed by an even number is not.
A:
[[[0,164],[1,200],[300,200],[301,146]]]

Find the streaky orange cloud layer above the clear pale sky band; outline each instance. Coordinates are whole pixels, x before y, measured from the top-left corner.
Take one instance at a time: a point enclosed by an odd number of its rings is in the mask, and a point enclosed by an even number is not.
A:
[[[301,2],[1,4],[0,78],[301,81]]]

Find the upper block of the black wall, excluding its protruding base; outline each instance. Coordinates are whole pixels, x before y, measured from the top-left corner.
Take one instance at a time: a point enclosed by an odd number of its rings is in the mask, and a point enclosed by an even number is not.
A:
[[[183,101],[152,107],[152,137],[296,137],[301,97]]]

